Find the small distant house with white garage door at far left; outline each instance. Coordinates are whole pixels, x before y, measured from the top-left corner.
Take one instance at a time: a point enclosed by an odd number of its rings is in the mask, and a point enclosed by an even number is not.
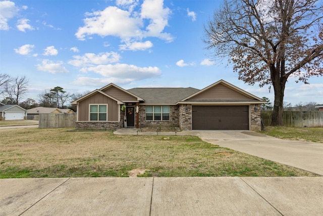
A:
[[[0,102],[0,121],[27,119],[27,110],[18,105],[6,105]]]

